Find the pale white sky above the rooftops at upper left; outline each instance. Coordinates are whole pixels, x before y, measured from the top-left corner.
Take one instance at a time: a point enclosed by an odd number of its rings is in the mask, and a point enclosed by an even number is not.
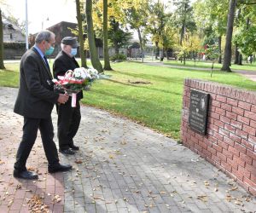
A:
[[[19,21],[25,21],[26,1],[28,34],[39,32],[62,20],[77,22],[75,0],[5,0],[7,6],[0,6],[4,14],[9,15],[9,11]]]

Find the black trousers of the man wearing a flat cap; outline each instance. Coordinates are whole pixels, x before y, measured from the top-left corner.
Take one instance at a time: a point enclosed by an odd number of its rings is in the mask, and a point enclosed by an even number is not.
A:
[[[81,112],[79,101],[76,107],[71,107],[71,97],[65,104],[57,105],[58,113],[58,139],[61,150],[73,146],[73,137],[79,130]]]

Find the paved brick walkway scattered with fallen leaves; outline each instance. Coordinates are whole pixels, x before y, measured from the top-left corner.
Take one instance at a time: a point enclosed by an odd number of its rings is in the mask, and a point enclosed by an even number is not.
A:
[[[62,163],[73,164],[72,171],[47,173],[38,135],[27,163],[38,181],[15,179],[23,123],[13,112],[16,95],[17,89],[0,88],[0,213],[256,210],[255,198],[188,148],[92,107],[81,108],[79,153],[60,154]],[[55,110],[53,121],[56,126]]]

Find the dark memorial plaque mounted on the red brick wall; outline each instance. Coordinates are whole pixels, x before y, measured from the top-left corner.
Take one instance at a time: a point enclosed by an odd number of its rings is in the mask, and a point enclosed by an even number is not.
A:
[[[195,89],[190,91],[189,127],[203,135],[207,134],[209,97],[209,94]]]

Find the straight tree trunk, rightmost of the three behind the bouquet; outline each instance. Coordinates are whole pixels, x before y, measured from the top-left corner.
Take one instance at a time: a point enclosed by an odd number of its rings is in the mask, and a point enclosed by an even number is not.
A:
[[[108,0],[103,0],[103,49],[104,70],[112,70],[108,55]]]

